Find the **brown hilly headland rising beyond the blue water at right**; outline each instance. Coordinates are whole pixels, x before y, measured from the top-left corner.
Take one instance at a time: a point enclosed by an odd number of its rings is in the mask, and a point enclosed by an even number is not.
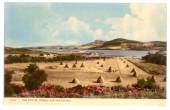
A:
[[[113,39],[110,41],[96,40],[94,42],[84,44],[81,47],[86,48],[86,49],[165,50],[166,42],[164,41],[141,42],[141,41],[136,41],[136,40],[117,38],[117,39]]]

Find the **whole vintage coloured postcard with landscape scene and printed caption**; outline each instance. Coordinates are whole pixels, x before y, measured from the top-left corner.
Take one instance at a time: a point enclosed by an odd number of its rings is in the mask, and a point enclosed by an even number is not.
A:
[[[166,18],[166,3],[5,2],[4,102],[164,106]]]

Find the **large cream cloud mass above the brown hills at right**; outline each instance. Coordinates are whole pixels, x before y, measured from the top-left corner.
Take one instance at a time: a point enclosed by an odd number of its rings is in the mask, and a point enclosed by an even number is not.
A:
[[[124,37],[134,40],[166,40],[166,6],[164,4],[130,4],[131,13],[103,21],[110,25],[108,39]]]

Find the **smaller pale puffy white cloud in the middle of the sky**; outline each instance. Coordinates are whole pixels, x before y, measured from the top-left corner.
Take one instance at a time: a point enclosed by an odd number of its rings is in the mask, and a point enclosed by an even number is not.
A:
[[[47,40],[50,37],[48,42],[56,45],[80,44],[95,39],[94,31],[90,25],[75,16],[70,16],[67,19],[47,20],[45,24],[47,25],[42,29],[41,35]]]

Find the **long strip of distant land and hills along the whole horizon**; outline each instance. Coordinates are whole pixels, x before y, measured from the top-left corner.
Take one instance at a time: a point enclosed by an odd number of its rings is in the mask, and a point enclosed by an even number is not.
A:
[[[36,49],[130,49],[130,50],[166,50],[166,41],[150,41],[150,42],[142,42],[136,40],[129,40],[124,38],[117,38],[110,41],[103,40],[95,40],[94,42],[90,42],[87,44],[79,45],[79,46],[36,46],[36,47],[23,47],[20,49],[11,49],[10,47],[6,47],[5,51],[10,53],[13,51],[29,51]],[[26,49],[26,50],[24,50]],[[28,49],[28,50],[27,50]],[[31,52],[30,52],[31,53]]]

